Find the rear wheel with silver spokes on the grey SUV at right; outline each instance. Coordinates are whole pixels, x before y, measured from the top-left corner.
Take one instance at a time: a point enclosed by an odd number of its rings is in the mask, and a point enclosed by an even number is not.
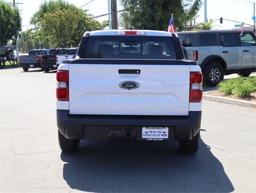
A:
[[[203,76],[203,80],[207,85],[215,87],[220,81],[223,81],[224,69],[219,63],[212,62],[206,65],[203,70]]]

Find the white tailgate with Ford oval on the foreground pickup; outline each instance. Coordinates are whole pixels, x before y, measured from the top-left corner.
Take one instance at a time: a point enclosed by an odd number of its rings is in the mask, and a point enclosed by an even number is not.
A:
[[[121,74],[120,69],[140,74]],[[70,64],[70,114],[186,116],[189,79],[190,65]],[[119,84],[124,81],[140,86],[123,89]]]

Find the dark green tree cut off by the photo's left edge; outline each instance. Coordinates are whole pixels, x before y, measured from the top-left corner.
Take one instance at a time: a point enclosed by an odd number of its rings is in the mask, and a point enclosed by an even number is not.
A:
[[[0,0],[0,42],[6,44],[18,37],[21,31],[21,18],[18,7]]]

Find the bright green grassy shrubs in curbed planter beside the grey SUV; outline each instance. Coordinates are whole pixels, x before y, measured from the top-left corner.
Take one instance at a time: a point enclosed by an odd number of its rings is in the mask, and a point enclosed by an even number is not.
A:
[[[238,97],[249,97],[251,93],[256,91],[256,77],[238,77],[236,79],[228,79],[218,84],[220,92],[226,95],[232,95],[232,92]]]

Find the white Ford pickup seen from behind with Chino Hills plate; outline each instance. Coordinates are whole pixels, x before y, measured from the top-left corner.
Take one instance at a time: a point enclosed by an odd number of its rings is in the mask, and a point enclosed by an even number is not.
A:
[[[198,150],[202,73],[185,60],[176,33],[150,30],[86,32],[76,59],[57,71],[60,148],[80,140],[176,140]]]

